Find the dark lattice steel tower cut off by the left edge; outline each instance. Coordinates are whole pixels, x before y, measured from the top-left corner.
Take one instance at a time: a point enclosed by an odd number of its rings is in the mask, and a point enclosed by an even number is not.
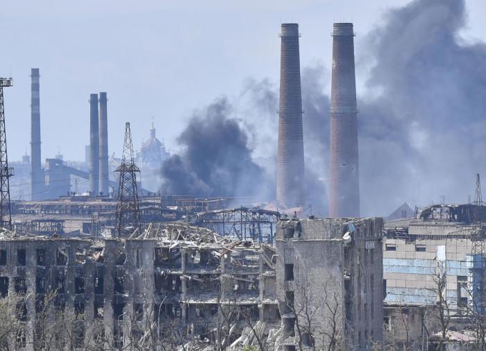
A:
[[[8,167],[5,114],[3,113],[3,88],[8,88],[12,85],[12,78],[0,78],[0,227],[6,229],[12,229],[10,182],[8,179],[13,175],[13,168]]]

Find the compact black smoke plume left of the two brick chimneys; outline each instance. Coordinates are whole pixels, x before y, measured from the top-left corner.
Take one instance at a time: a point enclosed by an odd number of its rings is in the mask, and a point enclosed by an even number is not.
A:
[[[181,154],[162,165],[162,191],[198,197],[254,197],[265,184],[264,170],[253,162],[249,138],[221,98],[194,112],[178,137]]]

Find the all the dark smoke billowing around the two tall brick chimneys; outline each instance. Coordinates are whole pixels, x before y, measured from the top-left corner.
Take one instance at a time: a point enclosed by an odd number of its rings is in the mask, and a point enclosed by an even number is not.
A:
[[[465,202],[474,173],[486,174],[486,45],[460,37],[466,22],[464,0],[415,0],[356,38],[362,215],[439,195]],[[329,80],[322,65],[302,69],[306,198],[320,216]],[[249,79],[239,96],[196,111],[178,138],[182,152],[162,167],[162,190],[274,200],[277,104],[278,85]]]

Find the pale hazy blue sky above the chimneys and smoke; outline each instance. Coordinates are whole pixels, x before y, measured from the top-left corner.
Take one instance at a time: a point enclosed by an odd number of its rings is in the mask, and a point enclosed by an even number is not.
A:
[[[110,154],[119,155],[124,122],[132,122],[138,148],[152,116],[158,137],[175,149],[194,108],[237,95],[249,77],[278,83],[281,22],[300,24],[302,67],[329,67],[333,22],[354,22],[358,57],[360,35],[388,6],[404,3],[1,0],[0,76],[11,75],[15,84],[5,91],[10,160],[26,149],[30,154],[31,67],[41,74],[42,158],[58,148],[65,159],[84,158],[87,100],[100,91],[108,92]],[[468,0],[467,6],[463,37],[486,40],[485,1]],[[358,94],[362,80],[358,75]]]

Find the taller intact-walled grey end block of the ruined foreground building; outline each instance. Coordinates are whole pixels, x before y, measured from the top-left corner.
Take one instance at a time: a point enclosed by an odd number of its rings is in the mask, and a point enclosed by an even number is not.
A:
[[[283,350],[362,350],[383,321],[381,218],[281,221],[277,295]]]

